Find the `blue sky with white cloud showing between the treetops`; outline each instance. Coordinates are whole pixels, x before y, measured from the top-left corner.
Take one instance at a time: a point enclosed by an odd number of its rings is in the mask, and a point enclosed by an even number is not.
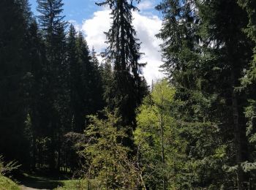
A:
[[[147,62],[143,74],[148,84],[151,84],[152,80],[163,77],[159,72],[159,66],[162,64],[159,45],[162,42],[155,37],[162,27],[161,15],[154,9],[160,1],[141,0],[138,4],[140,12],[133,12],[133,25],[138,32],[138,39],[142,42],[140,51],[145,53],[140,61]],[[94,47],[97,53],[102,52],[107,47],[104,31],[110,28],[109,10],[95,4],[101,0],[63,0],[63,2],[65,20],[75,25],[77,31],[83,32],[90,48]],[[37,15],[37,1],[29,0],[29,3],[32,12]]]

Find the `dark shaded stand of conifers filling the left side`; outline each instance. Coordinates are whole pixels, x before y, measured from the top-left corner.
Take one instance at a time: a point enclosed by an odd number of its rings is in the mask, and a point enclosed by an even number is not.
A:
[[[1,1],[0,152],[26,169],[75,170],[65,134],[80,137],[105,106],[103,71],[83,35],[67,32],[62,1],[37,3],[34,18],[28,1]]]

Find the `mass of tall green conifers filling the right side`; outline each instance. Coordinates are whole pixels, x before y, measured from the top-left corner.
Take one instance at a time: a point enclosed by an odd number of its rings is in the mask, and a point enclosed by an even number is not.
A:
[[[178,170],[184,175],[178,186],[184,189],[255,188],[254,175],[246,170],[254,152],[248,140],[252,121],[246,119],[252,117],[254,93],[244,86],[252,76],[255,46],[249,39],[255,9],[250,2],[240,1],[244,9],[236,1],[162,1],[157,6],[164,15],[158,34],[164,41],[162,68],[178,101],[172,114],[186,131],[178,134],[188,142],[184,164],[192,164]]]

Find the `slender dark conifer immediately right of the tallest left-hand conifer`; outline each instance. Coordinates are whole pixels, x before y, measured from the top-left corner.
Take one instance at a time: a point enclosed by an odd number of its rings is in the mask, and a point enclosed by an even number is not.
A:
[[[89,49],[82,34],[76,34],[74,26],[69,28],[68,37],[68,62],[70,70],[69,88],[70,105],[72,112],[72,131],[83,132],[85,115],[88,113],[86,99],[89,89],[86,86],[89,77],[86,65],[89,64]],[[87,109],[86,109],[87,108]]]

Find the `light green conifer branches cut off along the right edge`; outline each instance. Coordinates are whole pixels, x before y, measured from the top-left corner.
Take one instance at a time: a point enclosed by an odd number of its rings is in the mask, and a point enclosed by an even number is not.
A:
[[[244,75],[241,78],[241,87],[238,88],[246,93],[246,105],[245,105],[245,116],[247,119],[246,137],[249,140],[248,152],[249,156],[246,161],[242,164],[245,172],[249,173],[249,186],[251,189],[256,186],[256,173],[255,173],[255,116],[256,116],[256,2],[239,0],[238,4],[246,11],[249,18],[247,26],[244,29],[249,39],[253,41],[253,53],[252,60],[250,60],[249,68],[246,69]]]

